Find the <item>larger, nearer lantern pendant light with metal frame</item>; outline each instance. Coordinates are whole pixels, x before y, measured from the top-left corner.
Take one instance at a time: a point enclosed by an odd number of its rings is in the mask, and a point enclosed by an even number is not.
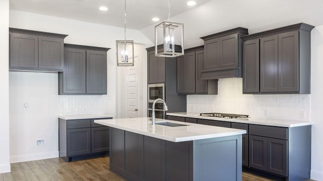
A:
[[[155,26],[155,56],[177,57],[184,55],[184,24],[170,22],[170,16],[171,4],[168,0],[168,21]],[[158,44],[164,46],[161,48],[158,47]]]

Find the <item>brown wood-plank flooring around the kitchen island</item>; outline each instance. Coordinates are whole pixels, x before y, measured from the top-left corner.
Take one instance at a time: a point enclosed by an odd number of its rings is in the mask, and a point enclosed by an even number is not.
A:
[[[0,173],[0,181],[20,180],[125,180],[109,170],[109,157],[65,162],[60,158],[43,159],[11,164],[11,172]],[[268,181],[264,177],[243,172],[243,181]]]

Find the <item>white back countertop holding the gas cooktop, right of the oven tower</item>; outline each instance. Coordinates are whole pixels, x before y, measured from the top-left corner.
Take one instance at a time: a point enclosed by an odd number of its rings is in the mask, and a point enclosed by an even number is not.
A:
[[[227,121],[235,123],[246,123],[246,124],[256,124],[256,125],[265,125],[265,126],[279,126],[279,127],[298,127],[298,126],[307,126],[312,125],[313,122],[309,121],[291,121],[291,120],[278,120],[278,119],[257,119],[257,118],[238,118],[238,119],[228,119],[228,118],[216,118],[216,117],[207,117],[200,116],[199,113],[167,113],[169,116],[179,116],[179,117],[188,117],[188,118],[197,118],[197,119],[207,119],[207,120],[217,120],[217,121]]]

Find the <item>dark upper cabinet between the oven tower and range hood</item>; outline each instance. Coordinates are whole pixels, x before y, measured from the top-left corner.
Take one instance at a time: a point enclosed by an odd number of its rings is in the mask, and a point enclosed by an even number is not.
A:
[[[185,50],[177,57],[177,93],[178,94],[218,94],[218,80],[202,80],[204,67],[203,46]]]

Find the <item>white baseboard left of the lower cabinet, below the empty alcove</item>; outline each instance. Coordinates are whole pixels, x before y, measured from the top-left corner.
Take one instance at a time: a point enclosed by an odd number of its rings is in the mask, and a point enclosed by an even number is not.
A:
[[[59,157],[59,151],[10,156],[10,163]]]

